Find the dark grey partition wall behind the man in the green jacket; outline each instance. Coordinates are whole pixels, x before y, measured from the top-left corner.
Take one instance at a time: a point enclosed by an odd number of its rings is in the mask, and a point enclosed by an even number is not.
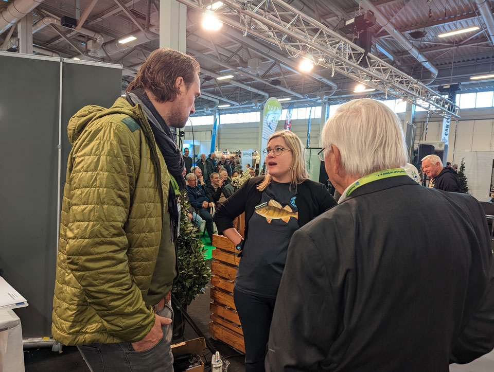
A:
[[[110,107],[121,66],[0,52],[0,73],[0,275],[28,300],[15,310],[23,338],[41,338],[51,335],[60,109],[63,193],[68,120],[87,104]]]

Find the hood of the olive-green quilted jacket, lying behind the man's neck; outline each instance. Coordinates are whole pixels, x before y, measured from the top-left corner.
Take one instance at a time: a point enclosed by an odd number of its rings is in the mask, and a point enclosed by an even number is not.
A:
[[[125,98],[122,97],[119,97],[109,109],[105,109],[104,107],[97,105],[84,106],[68,121],[68,140],[70,141],[70,144],[74,146],[77,138],[79,138],[84,129],[92,121],[105,115],[125,114],[137,121],[137,117],[141,110],[142,108],[140,108],[140,105],[132,106]]]

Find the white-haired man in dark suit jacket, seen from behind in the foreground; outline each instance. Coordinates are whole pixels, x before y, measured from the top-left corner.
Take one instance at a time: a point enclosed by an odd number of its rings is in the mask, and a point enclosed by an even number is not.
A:
[[[342,197],[292,236],[266,370],[446,372],[491,350],[480,203],[410,179],[401,122],[378,101],[343,104],[322,136]]]

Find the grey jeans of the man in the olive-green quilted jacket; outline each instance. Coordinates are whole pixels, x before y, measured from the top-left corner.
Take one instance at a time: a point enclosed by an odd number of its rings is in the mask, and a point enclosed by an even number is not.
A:
[[[158,315],[173,319],[171,301]],[[92,372],[173,372],[171,353],[172,324],[161,327],[163,339],[146,351],[134,351],[130,342],[118,344],[91,344],[78,346],[84,361]]]

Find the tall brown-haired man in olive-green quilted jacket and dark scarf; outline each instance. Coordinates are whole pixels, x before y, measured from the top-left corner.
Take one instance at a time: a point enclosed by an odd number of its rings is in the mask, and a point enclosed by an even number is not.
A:
[[[185,180],[169,127],[195,112],[199,70],[157,49],[125,98],[69,121],[52,334],[77,345],[91,370],[173,370],[169,293]]]

